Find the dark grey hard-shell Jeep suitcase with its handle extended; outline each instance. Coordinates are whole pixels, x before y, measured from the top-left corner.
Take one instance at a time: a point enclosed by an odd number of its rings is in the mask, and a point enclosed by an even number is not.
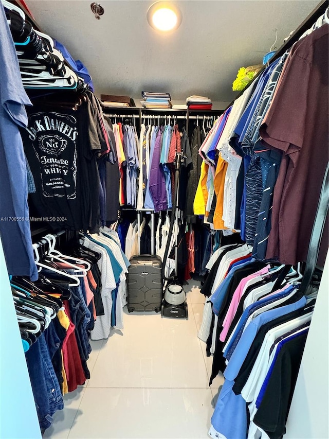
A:
[[[138,253],[140,253],[140,213],[138,218]],[[162,261],[154,256],[154,214],[151,226],[151,253],[152,255],[133,256],[127,273],[127,306],[128,311],[156,311],[161,310],[162,302]]]

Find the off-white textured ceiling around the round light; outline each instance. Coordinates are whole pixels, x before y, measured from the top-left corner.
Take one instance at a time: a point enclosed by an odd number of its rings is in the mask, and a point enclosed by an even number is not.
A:
[[[147,22],[153,3],[99,0],[96,20],[86,0],[27,0],[40,27],[62,42],[93,77],[96,93],[140,97],[141,90],[192,94],[231,101],[241,66],[259,64],[275,42],[280,47],[317,1],[185,0],[175,4],[181,26],[161,34]],[[137,104],[138,102],[136,102]]]

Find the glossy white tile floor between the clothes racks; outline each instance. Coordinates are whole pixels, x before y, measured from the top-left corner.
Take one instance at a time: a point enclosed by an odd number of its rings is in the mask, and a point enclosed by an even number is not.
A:
[[[65,395],[44,438],[206,439],[213,399],[212,358],[197,338],[204,296],[196,281],[185,287],[189,320],[156,313],[129,314],[124,329],[92,342],[91,378]]]

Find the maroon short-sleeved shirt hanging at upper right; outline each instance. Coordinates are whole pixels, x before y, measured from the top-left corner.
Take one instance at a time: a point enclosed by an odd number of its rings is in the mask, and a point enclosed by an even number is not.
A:
[[[328,29],[291,49],[260,129],[265,145],[283,151],[266,253],[283,264],[306,260],[328,162]]]

